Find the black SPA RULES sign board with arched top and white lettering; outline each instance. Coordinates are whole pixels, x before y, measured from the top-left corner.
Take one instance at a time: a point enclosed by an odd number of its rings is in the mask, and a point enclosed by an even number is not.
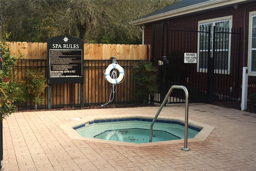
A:
[[[84,40],[55,36],[47,40],[48,84],[84,83]]]

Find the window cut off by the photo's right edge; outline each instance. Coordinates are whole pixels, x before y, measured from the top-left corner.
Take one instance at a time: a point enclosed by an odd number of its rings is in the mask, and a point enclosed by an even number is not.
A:
[[[248,67],[249,76],[256,76],[256,11],[249,13]]]

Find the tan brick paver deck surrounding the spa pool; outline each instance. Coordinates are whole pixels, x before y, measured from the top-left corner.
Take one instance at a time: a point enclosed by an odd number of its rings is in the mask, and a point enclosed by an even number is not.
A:
[[[4,171],[254,171],[256,114],[194,103],[189,119],[214,127],[204,141],[136,147],[73,139],[60,125],[72,118],[155,115],[156,107],[17,112],[3,121]],[[183,117],[185,105],[161,116]],[[159,115],[159,116],[160,116]]]

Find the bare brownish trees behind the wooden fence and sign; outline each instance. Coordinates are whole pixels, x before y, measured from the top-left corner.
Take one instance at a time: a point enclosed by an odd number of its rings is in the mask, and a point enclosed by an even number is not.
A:
[[[0,0],[0,11],[11,41],[46,42],[69,34],[88,43],[135,44],[141,31],[129,22],[174,1]]]

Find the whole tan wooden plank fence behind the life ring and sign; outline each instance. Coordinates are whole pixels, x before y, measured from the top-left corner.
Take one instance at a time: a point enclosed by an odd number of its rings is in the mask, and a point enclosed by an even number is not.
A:
[[[7,42],[12,55],[22,54],[15,68],[15,79],[24,80],[26,71],[33,67],[45,72],[47,77],[47,44],[32,42]],[[84,105],[101,105],[108,102],[111,85],[104,78],[104,70],[112,63],[112,56],[124,68],[125,80],[116,86],[115,102],[130,103],[138,101],[135,97],[135,83],[131,76],[133,65],[138,60],[150,59],[149,45],[124,44],[84,44]],[[53,84],[51,86],[52,107],[80,106],[80,84]],[[38,107],[47,107],[47,88],[42,94],[45,98]],[[30,109],[33,101],[18,104],[19,109]]]

